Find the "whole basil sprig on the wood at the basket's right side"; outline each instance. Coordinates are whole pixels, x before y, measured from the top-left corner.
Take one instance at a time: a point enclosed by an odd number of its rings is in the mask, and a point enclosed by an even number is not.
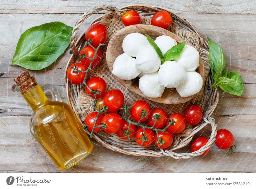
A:
[[[240,96],[244,93],[244,83],[238,72],[228,72],[226,59],[220,45],[207,37],[209,46],[209,62],[215,83],[212,88],[220,87],[229,94]]]

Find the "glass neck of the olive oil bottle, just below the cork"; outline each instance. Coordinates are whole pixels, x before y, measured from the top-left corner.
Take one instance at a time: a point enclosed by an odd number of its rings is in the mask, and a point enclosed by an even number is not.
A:
[[[48,101],[47,97],[44,94],[44,91],[37,84],[29,91],[22,94],[22,96],[33,111],[38,110]]]

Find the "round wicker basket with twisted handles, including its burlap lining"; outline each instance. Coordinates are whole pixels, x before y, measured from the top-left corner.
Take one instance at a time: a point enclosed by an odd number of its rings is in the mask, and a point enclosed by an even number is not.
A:
[[[200,100],[203,102],[201,104],[201,108],[204,110],[204,118],[199,125],[191,126],[187,125],[185,131],[181,134],[174,135],[174,143],[169,149],[159,149],[156,146],[151,147],[140,147],[135,140],[133,139],[132,142],[128,140],[121,140],[119,139],[116,134],[109,134],[104,131],[99,133],[94,133],[93,138],[100,142],[104,147],[111,149],[116,152],[120,152],[126,155],[136,155],[136,156],[152,156],[152,157],[160,157],[160,156],[170,156],[175,159],[188,159],[194,156],[202,155],[205,150],[209,149],[212,143],[215,141],[216,138],[216,124],[213,117],[211,117],[213,111],[215,110],[218,101],[219,101],[219,93],[217,89],[212,89],[211,85],[213,83],[211,75],[209,75],[209,63],[208,63],[208,47],[207,43],[205,42],[202,35],[198,32],[195,26],[193,26],[189,21],[182,19],[180,16],[175,14],[172,11],[164,9],[162,7],[150,7],[147,5],[142,4],[135,4],[122,7],[118,10],[116,7],[112,6],[99,6],[95,7],[92,10],[85,13],[81,19],[76,22],[76,26],[73,28],[73,33],[71,36],[71,57],[68,60],[68,64],[66,70],[70,64],[74,62],[78,62],[77,56],[79,54],[79,50],[84,47],[85,44],[85,31],[81,34],[78,38],[76,34],[79,30],[79,27],[83,24],[84,20],[89,18],[92,14],[103,12],[102,16],[95,19],[93,23],[102,23],[108,29],[108,39],[106,42],[106,46],[108,44],[109,39],[113,34],[115,34],[118,30],[125,27],[121,20],[120,20],[120,11],[127,11],[127,10],[134,10],[137,11],[141,16],[141,24],[150,24],[150,17],[157,11],[168,11],[172,15],[177,17],[177,21],[172,25],[170,31],[174,34],[179,35],[181,38],[186,40],[190,45],[197,48],[200,52],[200,58],[204,62],[205,68],[205,84],[204,89],[200,95],[197,95],[193,100]],[[107,12],[106,12],[107,11]],[[103,54],[106,53],[106,46],[104,46],[101,50]],[[66,72],[65,72],[66,74]],[[97,66],[95,69],[92,70],[92,76],[100,76],[106,80],[108,85],[108,90],[113,88],[117,88],[124,93],[125,99],[128,98],[128,105],[129,102],[134,102],[135,100],[143,99],[142,97],[136,96],[137,94],[133,94],[125,87],[121,86],[116,79],[112,76],[109,72],[108,67],[106,65],[106,58],[104,57],[102,63]],[[105,77],[107,76],[107,77]],[[105,77],[105,78],[104,78]],[[67,80],[67,75],[65,75],[65,82],[66,82],[66,89],[67,89],[67,96],[68,102],[72,106],[73,110],[76,112],[77,116],[80,118],[81,122],[84,120],[84,117],[92,111],[92,98],[85,94],[84,90],[80,91],[80,86],[76,86],[71,84]],[[143,99],[148,101],[146,99]],[[184,110],[189,105],[189,103],[184,104],[175,104],[175,105],[165,105],[156,102],[149,102],[151,108],[152,106],[160,107],[163,109],[167,109],[167,113],[174,113],[180,112],[184,113]],[[206,125],[211,125],[212,133],[209,138],[207,144],[200,148],[198,151],[192,153],[178,153],[177,150],[185,147],[188,143],[192,140],[195,133],[203,129]]]

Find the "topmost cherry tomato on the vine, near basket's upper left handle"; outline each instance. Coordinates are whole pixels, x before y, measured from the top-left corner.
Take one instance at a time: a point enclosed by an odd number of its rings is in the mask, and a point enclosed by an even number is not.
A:
[[[99,44],[103,44],[106,42],[108,37],[107,28],[99,23],[92,24],[89,26],[85,32],[85,39],[88,41],[89,39],[92,40],[91,45],[94,47],[98,47]]]

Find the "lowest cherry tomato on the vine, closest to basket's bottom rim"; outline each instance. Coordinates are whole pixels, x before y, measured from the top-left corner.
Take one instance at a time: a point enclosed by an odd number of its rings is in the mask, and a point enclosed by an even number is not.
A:
[[[165,133],[167,132],[167,133]],[[160,132],[158,131],[158,135],[159,138],[157,137],[157,134],[155,133],[155,143],[156,146],[158,146],[159,148],[168,148],[172,145],[173,142],[173,136],[172,133],[169,131],[165,131],[165,132]]]

